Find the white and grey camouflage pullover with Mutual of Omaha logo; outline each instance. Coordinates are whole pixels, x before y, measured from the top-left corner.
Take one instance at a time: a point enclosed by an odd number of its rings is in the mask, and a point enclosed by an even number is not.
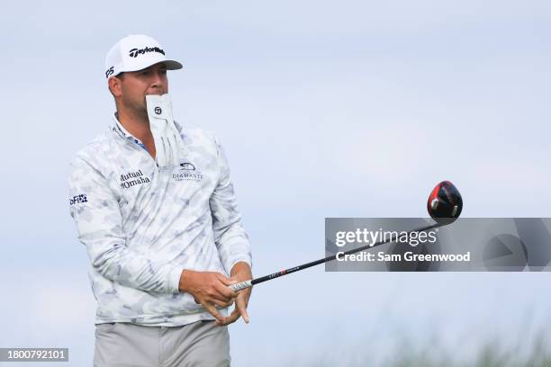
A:
[[[90,260],[96,324],[213,319],[178,291],[182,271],[229,274],[240,261],[251,264],[218,139],[176,127],[187,149],[179,166],[158,167],[114,117],[71,163],[69,209]]]

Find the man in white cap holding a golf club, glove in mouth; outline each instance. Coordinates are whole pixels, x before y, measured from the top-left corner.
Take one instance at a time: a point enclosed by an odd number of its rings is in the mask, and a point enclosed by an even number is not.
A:
[[[173,121],[167,70],[182,65],[157,40],[125,37],[105,63],[117,112],[69,179],[97,300],[94,365],[229,365],[227,325],[248,322],[250,291],[228,286],[252,274],[224,152]]]

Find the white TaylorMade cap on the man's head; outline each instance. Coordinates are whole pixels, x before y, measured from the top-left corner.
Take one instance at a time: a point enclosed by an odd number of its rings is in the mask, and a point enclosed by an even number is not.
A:
[[[119,40],[107,52],[105,77],[117,76],[125,71],[137,71],[162,62],[167,70],[182,68],[175,60],[167,60],[165,50],[157,40],[144,34],[131,34]]]

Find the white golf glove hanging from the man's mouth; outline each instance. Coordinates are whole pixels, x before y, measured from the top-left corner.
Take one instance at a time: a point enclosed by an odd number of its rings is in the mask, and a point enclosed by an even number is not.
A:
[[[146,95],[149,128],[155,141],[157,165],[178,166],[181,158],[186,156],[184,141],[172,118],[170,95]]]

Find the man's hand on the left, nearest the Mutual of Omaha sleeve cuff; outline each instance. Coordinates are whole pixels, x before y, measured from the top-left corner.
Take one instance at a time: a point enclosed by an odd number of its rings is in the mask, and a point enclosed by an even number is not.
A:
[[[223,323],[225,318],[221,316],[216,306],[225,309],[238,298],[238,294],[228,288],[234,283],[221,273],[184,270],[180,275],[178,289],[194,296],[195,302],[200,303],[204,309],[209,311],[216,318],[218,324]]]

